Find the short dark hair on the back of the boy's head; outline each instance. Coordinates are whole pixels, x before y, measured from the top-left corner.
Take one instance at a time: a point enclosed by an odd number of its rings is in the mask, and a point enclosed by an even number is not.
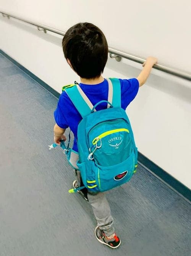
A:
[[[104,33],[91,23],[78,23],[62,40],[64,56],[81,78],[97,78],[105,68],[108,45]]]

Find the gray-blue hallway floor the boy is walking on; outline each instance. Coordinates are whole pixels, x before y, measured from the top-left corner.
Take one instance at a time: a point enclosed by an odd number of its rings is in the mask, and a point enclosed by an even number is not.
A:
[[[56,105],[0,55],[0,256],[191,255],[191,206],[141,167],[108,193],[120,248],[95,239],[89,204],[68,193],[73,170],[47,147]]]

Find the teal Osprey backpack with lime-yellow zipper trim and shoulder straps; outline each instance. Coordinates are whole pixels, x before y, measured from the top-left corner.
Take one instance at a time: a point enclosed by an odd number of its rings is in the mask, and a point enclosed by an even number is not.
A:
[[[121,108],[121,85],[117,78],[109,78],[108,101],[100,101],[95,106],[87,98],[79,85],[65,88],[74,106],[83,119],[78,125],[78,168],[84,187],[91,192],[104,192],[130,180],[137,168],[138,151],[128,116]],[[96,111],[102,102],[108,108]],[[61,147],[68,154],[71,149]],[[77,189],[69,190],[70,193]]]

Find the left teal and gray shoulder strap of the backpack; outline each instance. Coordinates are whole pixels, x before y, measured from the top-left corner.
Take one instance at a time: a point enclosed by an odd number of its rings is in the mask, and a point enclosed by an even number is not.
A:
[[[78,84],[66,88],[65,92],[83,118],[91,113],[94,106]]]

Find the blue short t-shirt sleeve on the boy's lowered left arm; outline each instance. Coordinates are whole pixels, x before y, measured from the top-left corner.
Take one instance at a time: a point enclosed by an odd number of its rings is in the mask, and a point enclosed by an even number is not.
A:
[[[68,128],[68,123],[65,119],[65,116],[63,113],[63,108],[64,108],[64,101],[63,101],[63,97],[61,94],[61,96],[58,100],[57,109],[54,111],[54,119],[60,128],[66,129],[66,128]]]

